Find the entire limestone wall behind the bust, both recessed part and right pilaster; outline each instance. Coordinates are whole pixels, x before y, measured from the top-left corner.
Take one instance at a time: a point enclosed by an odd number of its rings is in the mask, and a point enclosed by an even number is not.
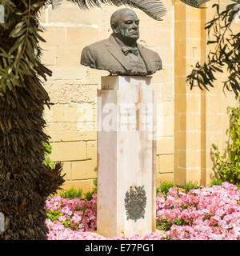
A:
[[[213,166],[211,144],[221,150],[226,147],[226,107],[237,102],[233,94],[222,93],[221,77],[210,91],[186,86],[191,66],[204,62],[208,52],[204,25],[213,15],[213,1],[206,10],[180,0],[164,4],[163,22],[134,9],[141,20],[139,43],[157,51],[163,62],[163,70],[153,79],[158,94],[157,186],[173,180],[179,185],[191,180],[206,186]],[[110,36],[114,10],[117,7],[106,5],[79,10],[63,2],[56,10],[49,6],[42,11],[41,24],[46,28],[42,60],[53,70],[45,83],[54,103],[45,112],[46,133],[53,146],[50,158],[64,163],[64,189],[74,186],[86,192],[97,177],[96,92],[101,76],[109,73],[80,66],[80,56],[84,46]]]

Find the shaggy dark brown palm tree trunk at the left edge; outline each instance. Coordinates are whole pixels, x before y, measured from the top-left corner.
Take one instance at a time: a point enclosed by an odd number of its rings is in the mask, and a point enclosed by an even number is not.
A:
[[[20,6],[22,2],[14,3],[14,11],[24,8]],[[0,26],[0,46],[6,53],[16,42],[9,34],[18,22],[10,21],[7,29]],[[31,25],[38,27],[37,20],[31,21]],[[2,56],[0,68],[4,66]],[[7,87],[0,96],[0,212],[5,215],[0,239],[46,239],[46,197],[64,182],[61,163],[55,169],[42,164],[42,142],[49,139],[43,132],[46,122],[42,115],[50,98],[39,76],[51,72],[40,62],[35,70],[35,74],[23,75],[18,86]]]

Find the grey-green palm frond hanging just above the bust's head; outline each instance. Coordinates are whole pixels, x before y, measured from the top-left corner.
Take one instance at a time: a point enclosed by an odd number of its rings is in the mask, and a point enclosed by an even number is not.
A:
[[[161,0],[67,0],[78,4],[81,9],[89,9],[90,7],[101,7],[102,4],[110,4],[114,6],[130,6],[138,8],[158,21],[162,21],[162,16],[166,14],[166,8]],[[52,0],[54,5],[61,4],[62,0]]]

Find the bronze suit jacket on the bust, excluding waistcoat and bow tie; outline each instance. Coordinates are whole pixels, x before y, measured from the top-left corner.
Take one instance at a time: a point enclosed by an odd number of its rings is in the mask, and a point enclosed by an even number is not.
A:
[[[146,64],[146,74],[154,74],[162,70],[162,60],[158,53],[138,45],[139,53]],[[122,47],[115,41],[113,35],[106,40],[95,42],[82,50],[81,64],[98,70],[108,70],[111,74],[129,75],[131,65],[122,52]],[[138,75],[138,74],[134,74]]]

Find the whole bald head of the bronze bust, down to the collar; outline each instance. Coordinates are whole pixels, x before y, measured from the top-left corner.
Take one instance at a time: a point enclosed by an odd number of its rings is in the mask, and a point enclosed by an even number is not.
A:
[[[133,10],[120,9],[111,16],[111,27],[115,37],[127,46],[134,46],[139,38],[139,19]]]

